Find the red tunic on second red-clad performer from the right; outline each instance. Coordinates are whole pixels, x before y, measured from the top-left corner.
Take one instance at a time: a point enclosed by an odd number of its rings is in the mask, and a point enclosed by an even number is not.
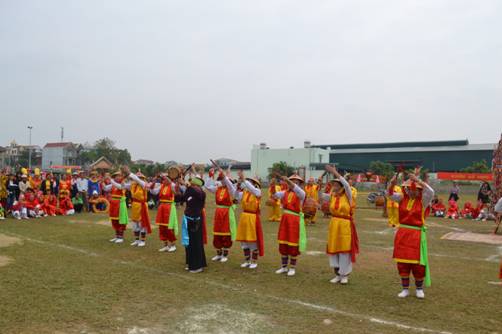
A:
[[[287,190],[281,200],[284,212],[279,223],[279,233],[277,240],[279,244],[288,246],[298,246],[300,240],[300,216],[288,213],[288,211],[299,214],[301,212],[301,200],[292,190]]]

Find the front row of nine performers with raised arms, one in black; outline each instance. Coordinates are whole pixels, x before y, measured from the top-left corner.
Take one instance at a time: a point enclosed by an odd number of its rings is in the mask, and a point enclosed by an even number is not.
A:
[[[132,246],[145,246],[147,234],[152,232],[147,207],[148,192],[159,196],[160,205],[155,218],[159,238],[164,243],[161,252],[174,252],[178,236],[178,217],[176,203],[184,203],[185,210],[181,223],[181,243],[186,250],[186,270],[202,272],[207,266],[204,244],[207,243],[205,191],[213,193],[216,209],[213,218],[213,246],[216,255],[212,261],[227,262],[230,249],[235,241],[240,242],[244,261],[242,268],[255,269],[259,258],[264,255],[263,229],[260,220],[261,183],[257,178],[246,177],[238,172],[238,179],[232,180],[228,171],[216,166],[218,175],[205,180],[196,174],[176,180],[168,174],[161,174],[160,181],[149,184],[144,175],[131,173],[127,167],[115,172],[107,186],[111,191],[110,220],[115,230],[113,243],[124,242],[124,231],[129,217],[125,203],[125,191],[130,190],[132,208],[130,220],[133,224],[135,240]],[[316,193],[329,205],[330,223],[326,244],[329,265],[334,277],[330,282],[345,285],[353,270],[353,263],[359,253],[359,240],[354,222],[355,189],[339,174],[334,166],[327,165],[326,171],[334,177],[329,182],[329,192]],[[307,235],[305,217],[302,211],[309,187],[298,175],[281,176],[287,187],[271,184],[270,196],[280,202],[282,214],[277,234],[278,250],[281,257],[277,274],[295,276],[298,257],[305,252]],[[393,257],[401,277],[402,291],[399,297],[409,295],[410,275],[413,274],[416,296],[424,298],[424,286],[430,285],[427,259],[427,228],[424,222],[424,209],[434,196],[433,189],[416,175],[401,186],[402,191],[394,192],[397,182],[395,176],[388,189],[388,196],[398,203],[399,227],[394,241]],[[276,187],[277,186],[277,187]],[[241,206],[237,221],[236,205]]]

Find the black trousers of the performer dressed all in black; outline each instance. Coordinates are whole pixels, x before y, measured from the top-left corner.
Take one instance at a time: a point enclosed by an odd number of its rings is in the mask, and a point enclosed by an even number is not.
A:
[[[197,270],[207,267],[204,241],[202,237],[202,218],[187,217],[189,242],[185,247],[186,264],[188,270]]]

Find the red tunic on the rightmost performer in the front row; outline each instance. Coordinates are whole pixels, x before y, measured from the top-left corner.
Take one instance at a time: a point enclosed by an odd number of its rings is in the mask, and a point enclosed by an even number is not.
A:
[[[406,225],[416,227],[424,225],[421,195],[411,199],[406,193],[403,193],[403,199],[399,203],[399,224],[394,238],[394,260],[404,263],[420,263],[420,230],[406,228]]]

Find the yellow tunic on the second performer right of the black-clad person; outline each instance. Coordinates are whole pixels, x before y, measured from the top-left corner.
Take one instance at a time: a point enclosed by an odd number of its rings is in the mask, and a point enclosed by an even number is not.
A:
[[[244,190],[242,193],[242,213],[237,227],[237,241],[256,242],[256,215],[260,210],[260,198]]]

